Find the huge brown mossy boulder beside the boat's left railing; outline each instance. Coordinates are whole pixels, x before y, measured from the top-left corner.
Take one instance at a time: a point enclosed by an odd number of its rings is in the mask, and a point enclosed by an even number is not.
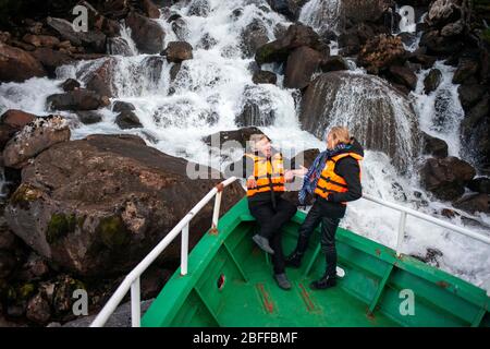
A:
[[[132,135],[90,135],[51,146],[23,170],[5,207],[11,229],[41,256],[85,276],[133,268],[220,179],[213,169],[146,146]],[[213,177],[209,177],[209,176]],[[243,196],[224,189],[221,212]],[[194,217],[193,248],[212,203]],[[180,239],[162,254],[176,261]]]

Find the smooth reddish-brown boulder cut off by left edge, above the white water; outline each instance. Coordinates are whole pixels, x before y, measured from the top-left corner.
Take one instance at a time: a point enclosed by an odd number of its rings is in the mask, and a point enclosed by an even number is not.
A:
[[[29,52],[0,43],[0,81],[23,82],[34,76],[46,76],[42,64]]]

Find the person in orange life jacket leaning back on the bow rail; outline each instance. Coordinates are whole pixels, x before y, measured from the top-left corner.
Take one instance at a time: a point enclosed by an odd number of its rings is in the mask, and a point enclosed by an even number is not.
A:
[[[281,153],[272,148],[266,135],[253,134],[249,144],[252,152],[245,153],[240,161],[231,164],[225,169],[225,176],[247,179],[248,208],[259,226],[253,240],[260,249],[272,254],[278,285],[290,289],[291,284],[285,275],[281,228],[295,215],[296,206],[281,195],[285,190],[285,182],[291,182],[294,177],[290,170],[284,170]],[[294,165],[294,161],[291,165]]]

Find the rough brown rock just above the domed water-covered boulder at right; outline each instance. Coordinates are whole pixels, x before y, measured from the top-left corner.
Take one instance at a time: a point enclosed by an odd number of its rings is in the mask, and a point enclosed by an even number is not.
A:
[[[362,48],[357,64],[366,67],[368,72],[377,73],[394,63],[403,63],[406,51],[399,37],[379,35]]]

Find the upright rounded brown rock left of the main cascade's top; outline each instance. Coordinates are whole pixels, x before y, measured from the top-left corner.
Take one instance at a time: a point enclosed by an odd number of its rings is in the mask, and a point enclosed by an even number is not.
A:
[[[126,25],[131,28],[131,37],[143,53],[159,53],[163,50],[166,32],[154,20],[136,12],[130,12]]]

